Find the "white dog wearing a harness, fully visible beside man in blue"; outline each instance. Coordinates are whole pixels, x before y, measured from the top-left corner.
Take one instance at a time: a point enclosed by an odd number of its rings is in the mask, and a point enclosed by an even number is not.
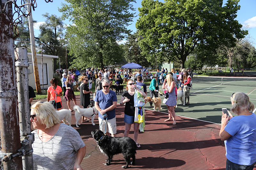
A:
[[[76,127],[78,128],[80,125],[78,122],[81,118],[81,116],[85,116],[85,117],[91,117],[92,119],[92,125],[95,125],[95,123],[93,123],[94,118],[96,115],[98,115],[98,110],[93,106],[93,107],[89,107],[89,108],[80,108],[79,106],[75,105],[73,107],[73,109],[75,110],[75,118],[76,118]]]

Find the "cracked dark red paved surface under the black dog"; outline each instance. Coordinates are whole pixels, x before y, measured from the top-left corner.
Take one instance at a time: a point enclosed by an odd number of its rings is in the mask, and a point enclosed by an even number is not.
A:
[[[79,96],[76,96],[80,103]],[[74,106],[73,101],[70,102]],[[67,102],[62,99],[63,108],[68,109]],[[122,169],[125,165],[122,154],[115,155],[109,166],[103,165],[107,157],[103,155],[91,131],[99,129],[98,116],[94,122],[75,125],[75,112],[72,112],[72,127],[80,134],[86,146],[85,158],[81,163],[85,169]],[[124,107],[116,107],[117,137],[124,136],[125,124],[123,122]],[[226,167],[225,146],[220,140],[219,124],[202,122],[194,119],[176,116],[177,125],[164,122],[167,114],[146,110],[146,127],[139,132],[138,143],[141,148],[137,150],[136,163],[130,165],[132,169],[184,169],[206,170]],[[129,137],[133,138],[133,126]],[[256,169],[256,168],[254,168]]]

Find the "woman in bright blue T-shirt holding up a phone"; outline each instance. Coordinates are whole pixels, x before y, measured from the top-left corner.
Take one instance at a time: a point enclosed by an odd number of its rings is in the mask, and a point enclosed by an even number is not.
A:
[[[243,92],[231,95],[231,111],[222,112],[220,139],[226,147],[226,170],[252,170],[256,164],[256,115],[253,103]]]

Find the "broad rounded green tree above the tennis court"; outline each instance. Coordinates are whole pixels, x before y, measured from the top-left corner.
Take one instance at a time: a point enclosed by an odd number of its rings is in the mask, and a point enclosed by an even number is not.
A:
[[[241,30],[236,12],[239,0],[142,0],[136,27],[143,54],[161,62],[178,58],[181,67],[196,46],[217,49],[234,46],[247,31]]]

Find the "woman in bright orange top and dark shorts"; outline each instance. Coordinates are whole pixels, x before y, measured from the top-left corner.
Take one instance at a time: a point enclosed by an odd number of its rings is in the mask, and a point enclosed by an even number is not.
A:
[[[52,78],[51,86],[47,89],[47,101],[53,101],[53,107],[57,110],[60,110],[62,108],[62,103],[60,96],[62,96],[62,89],[58,85],[58,80],[56,78]]]

